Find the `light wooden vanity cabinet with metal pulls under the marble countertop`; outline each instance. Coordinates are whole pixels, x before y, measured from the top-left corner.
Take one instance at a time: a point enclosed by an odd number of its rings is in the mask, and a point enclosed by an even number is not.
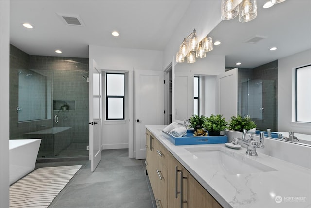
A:
[[[148,130],[146,167],[158,208],[222,207]]]

